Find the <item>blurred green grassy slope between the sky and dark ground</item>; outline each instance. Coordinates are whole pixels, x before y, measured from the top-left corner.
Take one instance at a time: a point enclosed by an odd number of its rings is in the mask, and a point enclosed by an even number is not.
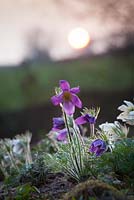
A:
[[[58,63],[0,68],[0,110],[18,110],[48,102],[60,79],[84,92],[133,87],[133,55],[93,57]]]

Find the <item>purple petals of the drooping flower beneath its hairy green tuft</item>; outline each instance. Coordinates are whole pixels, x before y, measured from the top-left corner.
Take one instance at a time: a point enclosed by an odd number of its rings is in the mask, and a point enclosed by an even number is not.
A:
[[[75,123],[78,125],[86,124],[86,123],[95,124],[95,122],[96,122],[96,118],[90,114],[82,115],[75,120]]]

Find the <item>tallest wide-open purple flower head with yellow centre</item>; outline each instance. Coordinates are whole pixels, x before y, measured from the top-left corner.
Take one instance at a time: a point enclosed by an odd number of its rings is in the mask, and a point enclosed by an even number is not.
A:
[[[57,106],[62,103],[66,114],[72,115],[75,112],[75,106],[82,107],[82,102],[76,95],[80,92],[79,87],[70,88],[70,84],[66,80],[59,81],[61,92],[51,98],[52,103]]]

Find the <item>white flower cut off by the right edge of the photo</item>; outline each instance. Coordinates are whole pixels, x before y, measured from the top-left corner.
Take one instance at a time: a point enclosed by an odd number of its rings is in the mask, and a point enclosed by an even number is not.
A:
[[[122,120],[123,122],[134,125],[134,104],[130,101],[124,101],[126,105],[121,105],[118,107],[118,110],[122,113],[117,117],[117,119]]]

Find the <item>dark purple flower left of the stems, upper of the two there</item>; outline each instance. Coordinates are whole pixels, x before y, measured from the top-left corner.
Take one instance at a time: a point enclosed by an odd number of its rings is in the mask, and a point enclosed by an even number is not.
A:
[[[53,131],[61,130],[65,128],[65,123],[62,117],[54,117],[53,118]]]

